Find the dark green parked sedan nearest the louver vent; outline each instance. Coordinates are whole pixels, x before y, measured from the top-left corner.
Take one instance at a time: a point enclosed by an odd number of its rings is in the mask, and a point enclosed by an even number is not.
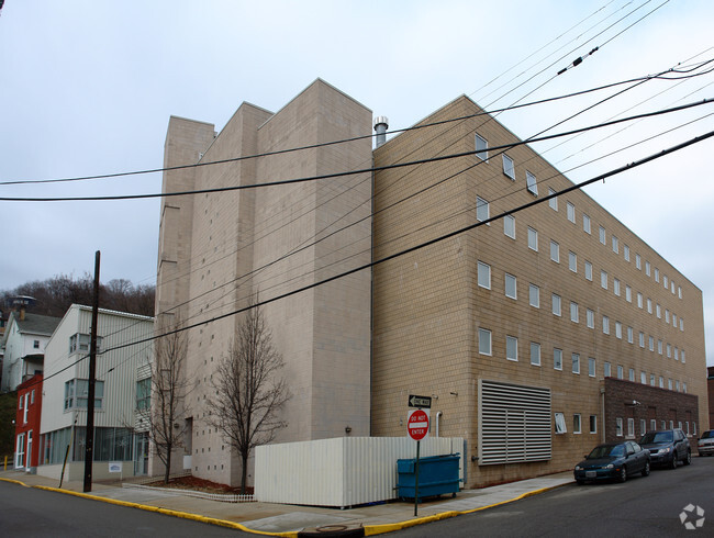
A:
[[[607,479],[624,482],[638,472],[649,474],[649,451],[635,441],[598,445],[573,471],[579,484]]]

